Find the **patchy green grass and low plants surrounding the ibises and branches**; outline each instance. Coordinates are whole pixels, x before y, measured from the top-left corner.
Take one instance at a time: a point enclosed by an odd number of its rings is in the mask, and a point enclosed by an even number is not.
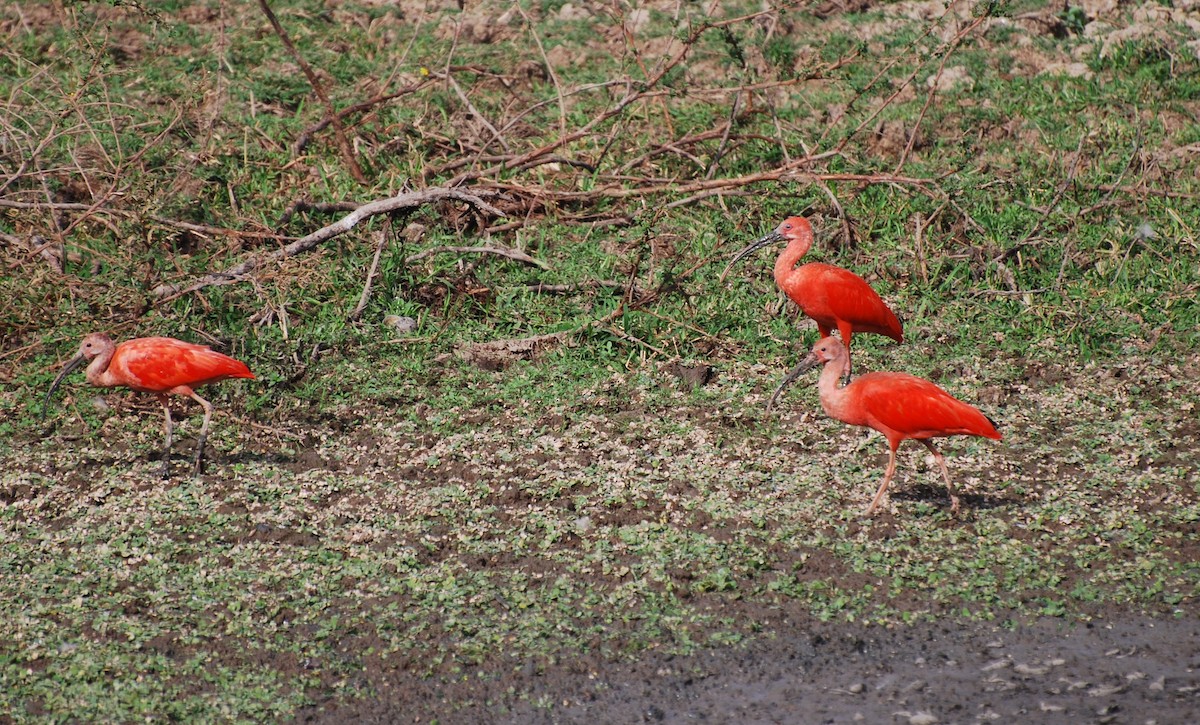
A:
[[[653,13],[628,46],[618,18],[522,7],[559,59],[568,131],[653,76],[668,38],[703,20]],[[541,58],[529,28],[518,18],[487,42],[455,42],[449,25],[506,8],[420,28],[353,4],[275,10],[335,106],[452,66],[490,122],[512,121],[505,143],[521,154],[554,140],[560,119],[554,83],[516,72]],[[511,185],[510,215],[482,224],[520,229],[484,234],[451,205],[395,220],[397,234],[410,222],[425,232],[385,248],[350,322],[378,218],[252,283],[166,302],[152,289],[280,244],[253,234],[300,236],[341,215],[299,212],[276,229],[296,199],[383,198],[503,148],[480,148],[474,113],[433,83],[347,119],[360,185],[328,128],[294,152],[323,107],[257,10],[185,10],[28,14],[36,31],[14,31],[0,52],[0,166],[31,158],[0,178],[0,202],[23,204],[0,206],[0,708],[16,720],[277,720],[371,696],[378,672],[437,681],[581,652],[688,652],[772,636],[785,619],[1194,609],[1200,185],[1187,148],[1200,68],[1182,29],[1109,47],[996,24],[947,61],[974,85],[928,104],[946,28],[889,6],[828,20],[785,8],[769,37],[752,22],[707,30],[668,92],[557,152],[596,169],[493,176]],[[732,4],[726,17],[757,10]],[[1036,74],[1075,59],[1094,76]],[[732,96],[713,89],[809,73],[743,94],[727,143],[679,142],[724,127]],[[913,73],[912,91],[856,132]],[[570,92],[626,76],[631,85]],[[876,134],[887,124],[902,130],[899,148]],[[914,125],[920,140],[896,172]],[[686,194],[550,196],[694,182],[719,151],[713,176],[727,179],[842,139],[808,170],[928,182],[822,188],[802,176],[676,208]],[[829,194],[852,222],[848,245]],[[29,208],[100,198],[90,215]],[[936,467],[904,448],[895,513],[864,521],[886,445],[824,418],[811,381],[778,415],[762,412],[816,334],[797,329],[772,253],[718,276],[799,210],[817,222],[811,257],[869,278],[905,322],[902,346],[857,337],[856,369],[931,377],[1001,421],[1003,442],[944,448],[966,520],[948,515]],[[61,272],[31,251],[60,241]],[[546,268],[406,262],[482,244]],[[656,294],[593,325],[625,299],[598,281]],[[414,337],[397,340],[386,314],[415,318]],[[221,413],[204,477],[158,480],[149,396],[113,391],[97,408],[77,375],[41,420],[58,365],[94,329],[211,336],[254,370],[256,382],[205,393]],[[576,332],[499,370],[464,352],[562,330]],[[667,370],[677,361],[712,365],[715,378],[691,389]],[[198,425],[187,413],[176,472]]]

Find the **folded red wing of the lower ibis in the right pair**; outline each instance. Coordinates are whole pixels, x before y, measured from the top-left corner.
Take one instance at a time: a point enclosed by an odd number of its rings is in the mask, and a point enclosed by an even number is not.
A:
[[[929,381],[899,373],[869,373],[854,382],[870,418],[906,437],[1000,433],[983,413]]]

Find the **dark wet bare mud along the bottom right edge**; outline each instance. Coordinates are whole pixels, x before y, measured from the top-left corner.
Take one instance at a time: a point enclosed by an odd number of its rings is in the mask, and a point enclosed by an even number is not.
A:
[[[308,723],[1195,723],[1194,619],[796,627],[748,648],[401,677]],[[511,693],[528,693],[514,699]],[[490,701],[490,702],[488,702]]]

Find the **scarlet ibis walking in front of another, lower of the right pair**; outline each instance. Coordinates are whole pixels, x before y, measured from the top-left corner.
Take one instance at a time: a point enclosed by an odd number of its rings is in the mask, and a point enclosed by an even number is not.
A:
[[[866,515],[874,514],[883,501],[896,472],[896,449],[908,439],[919,441],[934,454],[950,495],[950,513],[958,514],[959,497],[950,484],[946,459],[934,448],[930,438],[980,436],[998,441],[996,424],[974,406],[958,400],[934,383],[904,372],[869,372],[839,388],[838,378],[848,355],[836,337],[824,337],[788,377],[824,365],[817,389],[826,414],[850,425],[872,427],[888,439],[888,471],[871,505],[866,507]]]

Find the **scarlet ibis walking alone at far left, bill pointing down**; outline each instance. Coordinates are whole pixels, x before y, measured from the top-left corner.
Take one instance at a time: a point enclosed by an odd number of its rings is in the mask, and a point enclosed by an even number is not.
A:
[[[200,472],[204,439],[209,433],[212,403],[196,394],[193,388],[227,381],[229,378],[253,378],[245,362],[222,355],[203,344],[192,344],[172,337],[138,337],[115,344],[107,335],[92,334],[83,338],[79,353],[72,358],[59,377],[54,378],[43,401],[42,417],[49,413],[50,396],[72,371],[88,365],[88,382],[97,388],[125,387],[139,393],[154,393],[167,415],[167,445],[162,459],[162,477],[170,473],[172,421],[169,395],[186,395],[204,406],[204,424],[196,442],[196,459],[192,475]]]

